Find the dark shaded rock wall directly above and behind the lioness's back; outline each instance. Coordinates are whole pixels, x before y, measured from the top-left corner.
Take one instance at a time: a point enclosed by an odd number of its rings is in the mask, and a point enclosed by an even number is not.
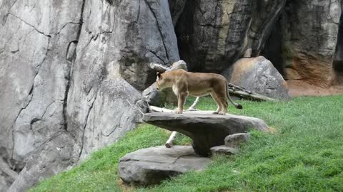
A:
[[[252,4],[252,0],[186,2],[175,30],[180,57],[189,71],[221,73],[244,53]]]

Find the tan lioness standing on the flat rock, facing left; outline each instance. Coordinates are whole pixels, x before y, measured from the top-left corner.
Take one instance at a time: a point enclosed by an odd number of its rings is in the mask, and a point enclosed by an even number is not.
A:
[[[218,105],[214,114],[227,112],[227,100],[234,107],[242,109],[242,105],[232,101],[227,89],[227,79],[219,74],[190,73],[182,69],[157,73],[156,89],[163,90],[166,87],[172,87],[173,92],[177,95],[178,109],[175,111],[176,113],[183,112],[184,102],[188,95],[201,97],[210,94]]]

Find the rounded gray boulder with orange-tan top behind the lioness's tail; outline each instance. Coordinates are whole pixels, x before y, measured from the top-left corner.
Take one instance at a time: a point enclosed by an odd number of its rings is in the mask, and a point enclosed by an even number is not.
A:
[[[287,82],[270,63],[260,56],[242,58],[222,73],[229,82],[252,92],[279,100],[289,100]]]

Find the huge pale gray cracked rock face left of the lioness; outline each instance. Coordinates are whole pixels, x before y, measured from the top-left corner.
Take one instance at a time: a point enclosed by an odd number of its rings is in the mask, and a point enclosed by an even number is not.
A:
[[[66,169],[63,159],[31,158],[54,156],[59,132],[77,151],[69,166],[133,129],[132,107],[144,110],[136,89],[155,79],[147,64],[179,60],[167,0],[109,2],[1,1],[0,159],[20,172],[14,181],[1,170],[5,191]]]

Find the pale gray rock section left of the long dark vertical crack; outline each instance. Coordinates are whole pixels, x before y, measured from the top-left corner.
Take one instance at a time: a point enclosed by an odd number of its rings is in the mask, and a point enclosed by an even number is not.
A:
[[[81,6],[82,1],[1,1],[0,159],[16,172],[64,129],[70,45],[78,38]]]

